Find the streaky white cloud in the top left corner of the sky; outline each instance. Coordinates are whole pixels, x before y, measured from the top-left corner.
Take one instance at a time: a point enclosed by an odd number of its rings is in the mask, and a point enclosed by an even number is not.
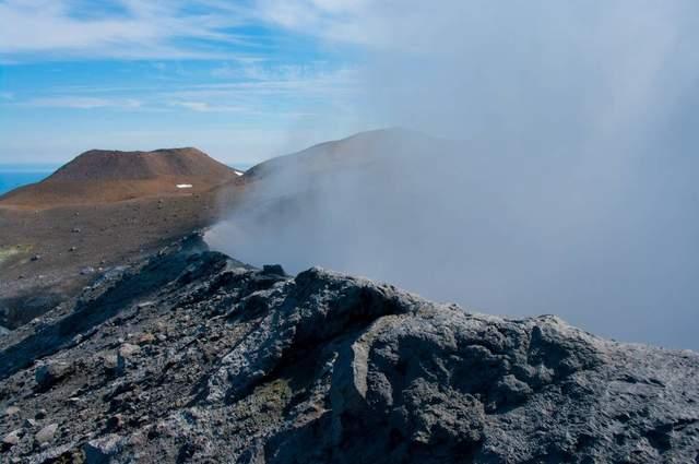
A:
[[[85,15],[80,0],[5,0],[0,58],[235,59],[222,44],[246,41],[234,31],[247,23],[247,13],[215,3],[114,0],[102,13],[91,3],[93,14]]]

